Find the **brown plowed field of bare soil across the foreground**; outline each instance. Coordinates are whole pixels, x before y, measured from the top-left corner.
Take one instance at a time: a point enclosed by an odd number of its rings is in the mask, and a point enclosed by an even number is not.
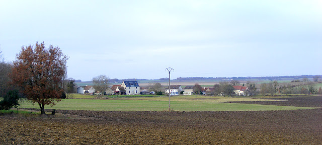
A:
[[[322,109],[228,112],[69,110],[68,114],[87,118],[0,115],[0,143],[321,144],[322,140]]]

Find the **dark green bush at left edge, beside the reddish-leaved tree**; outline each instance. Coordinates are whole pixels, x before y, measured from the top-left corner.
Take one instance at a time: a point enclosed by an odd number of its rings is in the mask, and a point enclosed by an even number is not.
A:
[[[4,99],[0,101],[0,110],[9,110],[11,107],[18,107],[19,93],[17,90],[9,91]]]

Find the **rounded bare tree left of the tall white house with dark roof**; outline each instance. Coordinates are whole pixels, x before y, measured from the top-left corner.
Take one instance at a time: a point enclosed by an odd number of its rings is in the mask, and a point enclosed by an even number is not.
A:
[[[110,78],[105,75],[100,75],[92,79],[94,88],[96,91],[100,91],[102,95],[105,95],[106,90],[110,87]]]

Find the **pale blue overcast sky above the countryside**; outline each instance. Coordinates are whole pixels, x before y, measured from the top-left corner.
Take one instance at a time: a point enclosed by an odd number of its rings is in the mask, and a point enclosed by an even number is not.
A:
[[[322,1],[0,1],[12,62],[44,41],[68,78],[322,75]]]

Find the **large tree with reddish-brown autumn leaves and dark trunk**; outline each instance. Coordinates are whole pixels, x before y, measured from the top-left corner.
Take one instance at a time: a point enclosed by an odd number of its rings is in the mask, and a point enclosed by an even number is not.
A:
[[[44,113],[44,105],[52,106],[60,101],[67,59],[59,47],[50,45],[45,49],[44,42],[37,42],[35,48],[22,46],[10,77],[29,100],[39,104]]]

